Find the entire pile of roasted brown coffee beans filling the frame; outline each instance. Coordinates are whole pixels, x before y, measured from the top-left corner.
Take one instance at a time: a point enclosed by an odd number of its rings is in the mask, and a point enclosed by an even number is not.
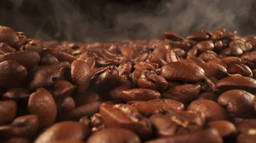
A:
[[[28,39],[0,26],[1,143],[256,143],[256,36]]]

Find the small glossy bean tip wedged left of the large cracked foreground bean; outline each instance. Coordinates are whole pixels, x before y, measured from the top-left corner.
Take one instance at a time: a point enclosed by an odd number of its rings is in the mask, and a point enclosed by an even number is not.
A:
[[[98,132],[106,128],[105,125],[102,123],[102,118],[99,113],[96,113],[91,117],[91,126],[92,132]]]

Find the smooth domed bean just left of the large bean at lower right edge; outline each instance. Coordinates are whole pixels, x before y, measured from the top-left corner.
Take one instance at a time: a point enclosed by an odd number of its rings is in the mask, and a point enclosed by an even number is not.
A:
[[[192,101],[187,110],[203,112],[206,122],[225,120],[227,118],[227,112],[220,104],[206,99]]]

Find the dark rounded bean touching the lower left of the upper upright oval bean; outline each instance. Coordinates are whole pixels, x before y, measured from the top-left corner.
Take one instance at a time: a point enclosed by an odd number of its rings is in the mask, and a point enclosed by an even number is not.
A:
[[[52,95],[55,100],[70,96],[76,87],[67,81],[55,81]]]

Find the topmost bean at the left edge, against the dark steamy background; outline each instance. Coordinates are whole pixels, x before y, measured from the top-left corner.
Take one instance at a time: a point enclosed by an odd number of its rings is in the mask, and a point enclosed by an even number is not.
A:
[[[0,25],[0,42],[6,43],[13,48],[19,48],[26,42],[23,32],[15,32],[12,28]]]

